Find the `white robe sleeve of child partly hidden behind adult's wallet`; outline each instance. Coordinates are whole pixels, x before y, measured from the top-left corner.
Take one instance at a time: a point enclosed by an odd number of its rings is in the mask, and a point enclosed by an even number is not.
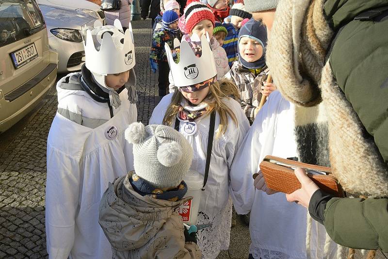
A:
[[[274,120],[274,110],[270,98],[261,108],[251,128],[242,141],[230,169],[230,196],[239,214],[248,213],[255,198],[253,174],[259,172],[260,154],[263,143],[271,146],[273,139],[268,137],[268,127]]]

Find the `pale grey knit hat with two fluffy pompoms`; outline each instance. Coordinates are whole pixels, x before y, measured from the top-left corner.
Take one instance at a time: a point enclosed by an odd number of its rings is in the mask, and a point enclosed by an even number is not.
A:
[[[177,130],[134,122],[125,130],[133,144],[135,173],[155,187],[176,187],[189,171],[193,148]]]

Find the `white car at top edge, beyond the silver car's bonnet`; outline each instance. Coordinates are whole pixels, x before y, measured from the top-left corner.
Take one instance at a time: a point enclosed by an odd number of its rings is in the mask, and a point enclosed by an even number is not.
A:
[[[103,25],[106,24],[104,11],[100,9],[99,5],[87,0],[36,0],[36,2],[39,5],[45,4],[80,11],[100,20]]]

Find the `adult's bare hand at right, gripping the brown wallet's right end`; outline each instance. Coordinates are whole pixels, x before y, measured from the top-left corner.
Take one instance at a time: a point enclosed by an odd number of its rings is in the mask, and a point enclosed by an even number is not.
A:
[[[295,169],[295,176],[302,184],[302,188],[296,190],[292,194],[286,194],[287,201],[294,201],[297,204],[308,208],[312,194],[314,194],[319,187],[306,175],[306,170],[303,168]]]

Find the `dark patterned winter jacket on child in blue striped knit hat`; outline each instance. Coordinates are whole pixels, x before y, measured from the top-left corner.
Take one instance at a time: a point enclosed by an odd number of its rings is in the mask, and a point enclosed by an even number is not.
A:
[[[157,30],[154,33],[154,37],[152,39],[151,52],[149,54],[149,57],[157,62],[167,62],[164,44],[167,43],[170,49],[173,49],[175,38],[178,38],[180,40],[182,38],[182,33],[179,31],[176,33],[172,33],[164,28]]]

